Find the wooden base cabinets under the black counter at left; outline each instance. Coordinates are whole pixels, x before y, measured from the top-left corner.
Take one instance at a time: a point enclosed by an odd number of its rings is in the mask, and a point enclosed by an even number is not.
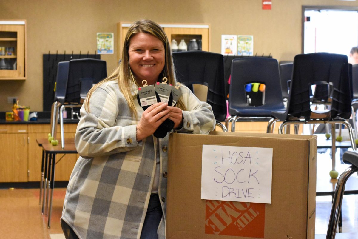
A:
[[[77,124],[65,124],[66,138],[74,138]],[[47,138],[49,124],[0,125],[0,182],[40,181],[42,147],[36,138]],[[60,135],[58,127],[58,135]],[[55,181],[68,181],[78,154],[57,154]],[[61,160],[60,160],[61,159]]]

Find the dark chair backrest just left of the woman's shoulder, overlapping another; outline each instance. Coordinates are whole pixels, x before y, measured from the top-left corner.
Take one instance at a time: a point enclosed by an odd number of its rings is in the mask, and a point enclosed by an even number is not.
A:
[[[69,61],[66,101],[82,103],[93,84],[107,77],[106,61],[84,58]]]

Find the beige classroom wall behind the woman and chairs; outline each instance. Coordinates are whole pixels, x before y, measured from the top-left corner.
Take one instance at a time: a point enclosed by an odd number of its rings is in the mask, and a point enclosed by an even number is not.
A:
[[[302,5],[358,6],[338,0],[272,0],[262,10],[261,0],[0,0],[1,19],[26,19],[27,62],[25,81],[0,81],[0,111],[10,111],[8,96],[42,111],[42,55],[94,53],[96,33],[113,32],[117,23],[151,19],[160,23],[205,23],[211,26],[211,51],[220,53],[222,34],[254,36],[254,52],[277,60],[292,60],[301,53]],[[116,45],[115,45],[116,47]],[[117,50],[102,55],[108,73],[116,67]]]

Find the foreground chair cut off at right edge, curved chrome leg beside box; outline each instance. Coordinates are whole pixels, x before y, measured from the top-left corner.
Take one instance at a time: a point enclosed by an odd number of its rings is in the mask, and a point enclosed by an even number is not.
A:
[[[337,231],[339,215],[341,213],[345,183],[350,175],[358,172],[358,151],[346,151],[343,154],[343,162],[351,164],[340,176],[334,192],[332,210],[329,218],[326,239],[334,239]]]

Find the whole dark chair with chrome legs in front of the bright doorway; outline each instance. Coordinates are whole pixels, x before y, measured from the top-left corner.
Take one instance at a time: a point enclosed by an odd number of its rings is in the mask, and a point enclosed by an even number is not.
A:
[[[346,121],[351,115],[351,91],[346,55],[333,53],[310,53],[296,55],[286,111],[272,112],[269,122],[280,119],[283,127],[301,124],[330,124],[332,126],[332,152],[335,152],[335,124],[348,128],[353,150],[356,149],[352,126]],[[310,95],[311,86],[320,86]],[[328,97],[323,97],[328,92]],[[315,94],[319,97],[315,98]],[[330,105],[316,111],[311,104]],[[332,170],[335,170],[335,153],[332,153]]]

